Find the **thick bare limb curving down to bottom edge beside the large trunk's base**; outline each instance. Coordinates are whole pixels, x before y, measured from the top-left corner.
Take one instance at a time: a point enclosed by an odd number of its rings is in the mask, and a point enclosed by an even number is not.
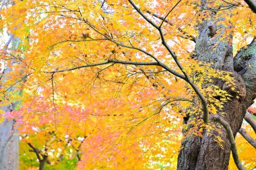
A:
[[[238,157],[237,148],[236,148],[236,142],[234,140],[233,132],[232,132],[228,122],[226,122],[226,120],[222,119],[218,115],[210,115],[209,116],[209,120],[210,121],[212,120],[214,122],[218,122],[218,123],[220,123],[225,128],[226,135],[228,136],[228,140],[229,140],[230,145],[231,145],[230,147],[231,147],[234,163],[236,164],[236,167],[239,170],[246,170],[245,167],[243,167],[243,165],[241,164],[241,161],[240,161],[240,159]]]

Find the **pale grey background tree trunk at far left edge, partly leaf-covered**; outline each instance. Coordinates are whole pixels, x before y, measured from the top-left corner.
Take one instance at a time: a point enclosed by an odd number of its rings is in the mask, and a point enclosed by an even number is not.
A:
[[[10,5],[11,1],[3,1],[1,3],[0,11],[3,7]],[[3,47],[3,52],[9,50],[15,50],[16,46],[19,44],[19,39],[14,38],[11,32],[1,32],[1,44],[5,44]],[[5,41],[5,38],[8,38]],[[1,89],[5,89],[4,82],[8,80],[8,73],[11,71],[10,67],[5,67],[5,61],[1,60]],[[10,87],[6,89],[5,92],[12,93],[13,88]],[[3,98],[1,98],[2,101]],[[5,102],[1,105],[1,113],[12,112],[15,110],[16,105],[18,105],[17,100],[11,100]],[[0,124],[0,169],[18,169],[19,168],[19,133],[14,128],[15,119],[7,120],[1,115]]]

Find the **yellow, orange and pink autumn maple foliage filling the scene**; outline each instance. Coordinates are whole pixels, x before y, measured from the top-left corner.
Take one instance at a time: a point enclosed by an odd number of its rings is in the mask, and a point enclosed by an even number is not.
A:
[[[232,97],[214,79],[236,94],[230,73],[191,57],[207,11],[195,0],[133,3],[162,28],[183,69],[129,1],[15,0],[1,10],[1,28],[15,38],[1,49],[11,68],[1,81],[1,105],[17,103],[3,116],[17,121],[21,169],[38,167],[29,144],[47,156],[45,169],[176,169],[184,136],[201,136],[205,128],[220,133],[220,126],[203,123],[200,97],[179,77],[187,74],[212,115],[224,115]],[[216,15],[227,18],[218,24],[235,25],[230,28],[235,54],[256,35],[256,15],[244,1],[234,3]],[[228,3],[209,6],[222,9]],[[195,119],[183,125],[188,115]],[[254,148],[241,138],[238,154],[253,168],[256,160],[248,151]],[[216,142],[222,145],[218,135]],[[230,169],[235,167],[230,161]]]

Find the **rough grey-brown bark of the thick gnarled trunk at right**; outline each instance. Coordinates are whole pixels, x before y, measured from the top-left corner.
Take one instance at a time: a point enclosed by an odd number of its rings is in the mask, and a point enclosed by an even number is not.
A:
[[[203,8],[206,9],[207,1],[201,2]],[[223,118],[230,124],[235,137],[241,128],[247,108],[256,96],[256,41],[254,38],[247,48],[242,48],[233,58],[231,34],[226,34],[225,29],[219,36],[216,34],[218,29],[224,28],[222,25],[218,26],[216,21],[223,18],[214,18],[214,13],[211,17],[210,20],[199,24],[199,37],[195,45],[196,54],[193,57],[214,63],[214,69],[232,73],[239,93],[231,91],[224,82],[216,80],[214,83],[233,96],[224,104],[222,111],[226,112]],[[227,35],[224,40],[221,39],[223,35]],[[222,134],[220,134],[224,140],[223,148],[214,140],[214,135],[216,134],[207,136],[205,130],[202,138],[199,136],[184,138],[181,143],[177,169],[228,169],[230,142],[226,131],[222,128]]]

